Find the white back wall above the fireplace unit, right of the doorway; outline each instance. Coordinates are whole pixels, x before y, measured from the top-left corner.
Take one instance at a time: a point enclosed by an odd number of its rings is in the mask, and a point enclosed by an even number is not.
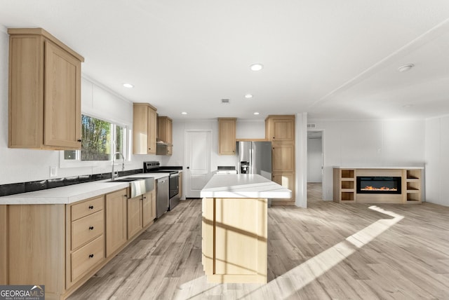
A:
[[[424,166],[424,120],[323,121],[325,200],[333,198],[333,166]]]

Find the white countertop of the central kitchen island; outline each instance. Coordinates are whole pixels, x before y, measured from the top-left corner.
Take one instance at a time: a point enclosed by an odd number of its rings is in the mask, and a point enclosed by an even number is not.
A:
[[[201,198],[291,198],[292,191],[256,174],[214,175]]]

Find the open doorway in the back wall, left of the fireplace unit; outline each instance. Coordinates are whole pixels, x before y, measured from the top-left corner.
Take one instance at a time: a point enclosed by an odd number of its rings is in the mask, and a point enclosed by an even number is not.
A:
[[[323,199],[323,130],[307,131],[307,202]]]

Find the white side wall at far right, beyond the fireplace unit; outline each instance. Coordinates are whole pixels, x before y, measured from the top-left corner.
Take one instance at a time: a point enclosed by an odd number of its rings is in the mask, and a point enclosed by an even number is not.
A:
[[[449,116],[426,120],[426,201],[449,206]]]

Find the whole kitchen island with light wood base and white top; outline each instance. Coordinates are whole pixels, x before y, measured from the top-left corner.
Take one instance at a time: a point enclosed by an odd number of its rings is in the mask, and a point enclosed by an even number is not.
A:
[[[208,282],[267,282],[268,198],[291,191],[260,175],[214,175],[203,198],[203,270]]]

